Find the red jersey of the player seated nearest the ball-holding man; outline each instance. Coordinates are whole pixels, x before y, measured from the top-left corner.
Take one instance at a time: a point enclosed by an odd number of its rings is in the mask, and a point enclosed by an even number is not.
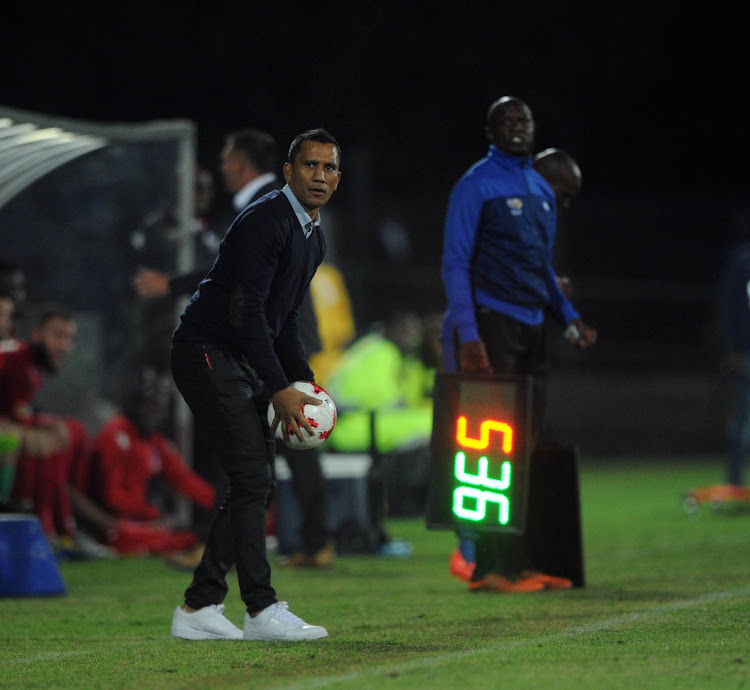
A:
[[[147,501],[156,476],[202,508],[214,504],[214,488],[185,464],[173,443],[158,433],[142,437],[123,415],[110,419],[94,440],[91,471],[92,495],[119,518],[159,518],[159,510]]]

